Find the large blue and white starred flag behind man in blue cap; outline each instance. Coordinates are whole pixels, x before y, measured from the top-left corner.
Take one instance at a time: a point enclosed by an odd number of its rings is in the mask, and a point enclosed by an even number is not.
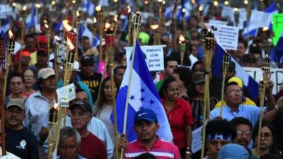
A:
[[[129,87],[129,81],[131,80],[132,83],[130,86],[131,88],[129,89],[129,105],[127,113],[127,139],[129,141],[137,139],[137,135],[133,129],[134,114],[141,109],[141,107],[144,107],[153,110],[157,114],[158,124],[160,125],[157,135],[163,140],[172,141],[173,136],[166,117],[166,112],[161,104],[161,100],[154,86],[154,82],[152,81],[138,42],[134,54],[134,66],[131,79],[129,79],[129,74],[130,66],[127,66],[116,99],[118,131],[120,131],[120,133],[123,131],[127,88]]]

